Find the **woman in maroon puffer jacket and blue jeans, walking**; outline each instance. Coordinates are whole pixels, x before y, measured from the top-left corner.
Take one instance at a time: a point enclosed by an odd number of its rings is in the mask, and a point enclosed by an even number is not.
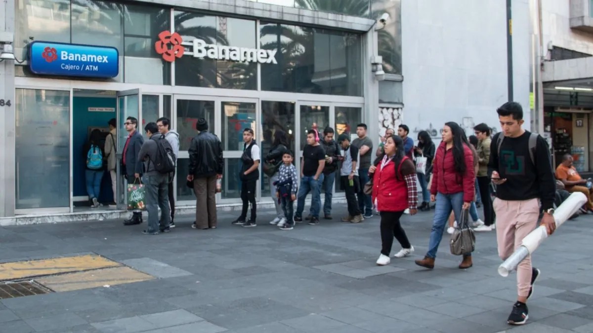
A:
[[[455,219],[461,221],[461,210],[470,208],[475,189],[474,154],[466,133],[451,121],[445,123],[441,135],[442,142],[432,161],[431,201],[436,200],[436,207],[431,239],[424,259],[416,260],[417,265],[431,270],[435,267],[436,251],[451,210]],[[472,265],[471,253],[464,254],[459,268],[470,268]]]

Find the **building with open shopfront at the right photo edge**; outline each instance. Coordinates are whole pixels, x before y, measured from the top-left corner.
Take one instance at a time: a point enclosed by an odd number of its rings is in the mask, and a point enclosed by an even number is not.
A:
[[[538,11],[543,130],[553,143],[554,165],[570,153],[576,169],[588,173],[593,171],[593,4],[540,0]]]

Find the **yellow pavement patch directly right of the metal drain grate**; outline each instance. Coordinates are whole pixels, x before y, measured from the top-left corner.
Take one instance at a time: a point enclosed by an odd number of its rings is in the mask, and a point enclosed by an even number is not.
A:
[[[55,292],[69,292],[70,290],[89,289],[106,285],[115,286],[116,284],[134,283],[152,280],[153,278],[148,274],[122,266],[41,277],[36,278],[35,281]]]

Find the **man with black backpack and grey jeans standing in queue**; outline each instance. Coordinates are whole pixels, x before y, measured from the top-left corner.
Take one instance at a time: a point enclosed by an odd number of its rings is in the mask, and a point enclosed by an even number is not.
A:
[[[143,233],[157,235],[159,232],[170,231],[168,185],[173,180],[176,158],[171,144],[158,133],[157,123],[146,124],[144,130],[149,139],[144,142],[138,154],[138,160],[144,161],[146,210],[148,210],[148,228]],[[160,219],[158,207],[161,208]]]

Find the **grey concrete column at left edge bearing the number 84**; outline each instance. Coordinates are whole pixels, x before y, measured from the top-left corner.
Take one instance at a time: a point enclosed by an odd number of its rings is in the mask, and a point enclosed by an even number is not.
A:
[[[0,2],[0,43],[14,39],[15,0]],[[14,60],[0,62],[0,99],[10,101],[10,106],[0,106],[2,133],[0,134],[0,217],[14,216],[15,203],[15,100]]]

